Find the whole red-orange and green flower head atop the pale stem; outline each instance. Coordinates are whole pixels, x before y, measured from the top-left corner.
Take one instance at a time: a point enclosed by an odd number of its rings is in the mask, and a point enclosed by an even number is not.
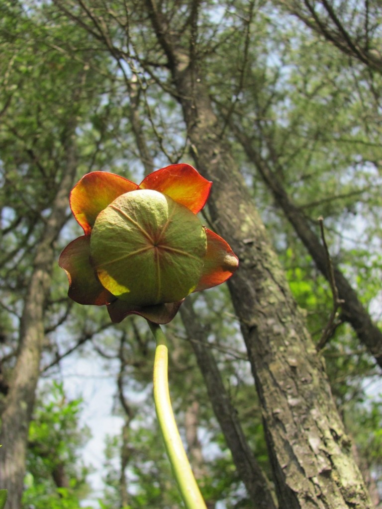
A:
[[[220,285],[238,259],[197,214],[212,182],[189,164],[173,164],[141,184],[107,172],[85,175],[70,193],[84,230],[62,251],[68,295],[106,305],[113,322],[131,314],[164,324],[192,292]]]

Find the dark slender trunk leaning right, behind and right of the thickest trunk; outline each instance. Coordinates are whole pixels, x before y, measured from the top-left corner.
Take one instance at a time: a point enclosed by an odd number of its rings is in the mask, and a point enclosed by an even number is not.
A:
[[[328,257],[318,236],[312,231],[304,214],[293,204],[287,192],[272,172],[267,162],[256,152],[250,138],[234,127],[234,132],[248,158],[256,168],[275,197],[276,204],[282,209],[299,239],[308,249],[318,270],[329,279]],[[341,318],[348,322],[359,340],[366,346],[376,362],[382,367],[382,331],[373,323],[367,310],[358,299],[357,292],[351,287],[338,267],[334,267],[334,278],[341,304]]]

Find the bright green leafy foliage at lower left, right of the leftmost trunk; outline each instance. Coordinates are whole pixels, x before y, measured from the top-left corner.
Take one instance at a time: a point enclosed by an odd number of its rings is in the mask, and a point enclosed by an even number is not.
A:
[[[89,438],[79,427],[81,400],[68,400],[62,383],[40,393],[29,429],[29,453],[22,507],[77,508],[89,491],[88,469],[79,460]]]

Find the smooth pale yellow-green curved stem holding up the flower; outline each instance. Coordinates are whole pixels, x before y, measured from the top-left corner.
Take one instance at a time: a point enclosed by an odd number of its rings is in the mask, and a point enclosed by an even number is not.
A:
[[[159,325],[149,320],[147,323],[156,341],[154,403],[167,455],[186,509],[206,509],[206,504],[189,465],[171,406],[166,336]]]

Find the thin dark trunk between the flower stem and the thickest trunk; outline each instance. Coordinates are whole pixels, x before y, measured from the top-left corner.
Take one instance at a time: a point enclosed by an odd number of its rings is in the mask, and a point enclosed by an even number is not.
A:
[[[247,488],[248,496],[253,506],[258,509],[276,509],[269,483],[244,436],[236,410],[233,408],[223,384],[219,368],[211,350],[206,346],[205,331],[198,323],[198,317],[189,300],[182,304],[180,314],[206,383],[213,411],[231,450],[237,473]]]

